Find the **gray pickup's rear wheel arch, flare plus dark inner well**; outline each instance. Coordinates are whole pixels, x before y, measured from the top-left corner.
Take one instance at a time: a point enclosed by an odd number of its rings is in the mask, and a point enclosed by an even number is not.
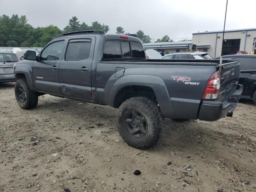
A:
[[[131,92],[131,90],[136,92]],[[109,92],[108,105],[118,108],[124,100],[131,98],[127,96],[127,93],[130,96],[155,98],[153,101],[158,102],[165,118],[172,118],[174,116],[168,90],[164,80],[158,76],[140,74],[120,78],[114,83]]]

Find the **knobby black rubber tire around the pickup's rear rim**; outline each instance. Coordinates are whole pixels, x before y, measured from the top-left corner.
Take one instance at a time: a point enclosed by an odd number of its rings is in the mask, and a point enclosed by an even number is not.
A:
[[[141,137],[133,136],[126,126],[126,115],[136,110],[146,120],[146,131]],[[118,131],[124,141],[132,147],[147,149],[160,140],[164,131],[164,118],[160,108],[150,99],[134,97],[124,101],[118,109]]]

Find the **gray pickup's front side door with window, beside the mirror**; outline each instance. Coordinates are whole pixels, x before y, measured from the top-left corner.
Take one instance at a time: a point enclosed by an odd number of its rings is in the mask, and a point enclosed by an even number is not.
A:
[[[38,91],[62,95],[60,92],[59,66],[64,40],[52,42],[38,55],[33,64],[33,83]]]

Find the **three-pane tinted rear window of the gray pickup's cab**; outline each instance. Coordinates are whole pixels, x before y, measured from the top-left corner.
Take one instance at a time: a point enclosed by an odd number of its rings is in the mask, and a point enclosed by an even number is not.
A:
[[[140,42],[108,40],[104,44],[103,59],[145,58]]]

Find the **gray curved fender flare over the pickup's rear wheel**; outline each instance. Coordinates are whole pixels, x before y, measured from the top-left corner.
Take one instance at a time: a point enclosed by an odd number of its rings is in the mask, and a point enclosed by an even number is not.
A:
[[[114,100],[118,91],[126,86],[147,86],[152,88],[158,100],[162,115],[165,118],[173,118],[174,112],[168,90],[164,80],[153,75],[128,75],[118,79],[108,94],[108,105],[114,106]]]

